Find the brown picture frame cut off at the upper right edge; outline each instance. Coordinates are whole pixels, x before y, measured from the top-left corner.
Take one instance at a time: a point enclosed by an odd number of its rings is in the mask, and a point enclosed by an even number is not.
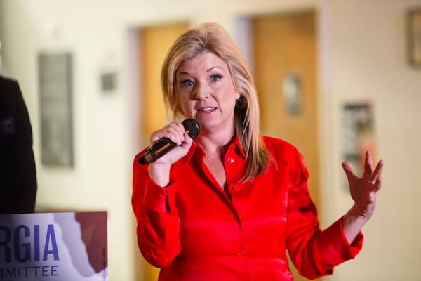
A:
[[[406,29],[409,63],[414,67],[421,67],[421,7],[408,11]]]

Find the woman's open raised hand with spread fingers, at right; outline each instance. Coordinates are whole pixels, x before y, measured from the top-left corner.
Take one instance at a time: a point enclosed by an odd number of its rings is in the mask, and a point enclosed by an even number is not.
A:
[[[354,169],[349,162],[342,163],[342,168],[347,174],[349,191],[354,200],[352,216],[368,221],[373,216],[377,191],[382,186],[383,161],[380,160],[373,171],[373,159],[370,151],[367,151],[362,178],[354,174]]]

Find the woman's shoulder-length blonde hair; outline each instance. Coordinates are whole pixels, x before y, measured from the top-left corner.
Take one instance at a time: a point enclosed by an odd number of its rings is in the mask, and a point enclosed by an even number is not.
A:
[[[176,92],[175,72],[183,61],[204,51],[218,55],[227,63],[234,87],[241,93],[234,108],[234,127],[248,161],[243,181],[250,181],[265,172],[270,157],[260,133],[258,95],[250,70],[239,48],[221,25],[203,23],[175,40],[161,70],[164,101],[175,119],[183,117]]]

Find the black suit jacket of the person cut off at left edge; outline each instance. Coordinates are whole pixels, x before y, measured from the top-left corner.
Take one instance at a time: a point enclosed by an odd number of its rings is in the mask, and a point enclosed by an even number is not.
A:
[[[0,214],[33,213],[32,127],[17,81],[0,76]]]

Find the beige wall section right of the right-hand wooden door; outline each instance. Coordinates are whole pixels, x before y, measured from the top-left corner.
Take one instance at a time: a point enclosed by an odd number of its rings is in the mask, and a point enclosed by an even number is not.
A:
[[[329,280],[421,280],[421,69],[406,60],[405,15],[421,1],[323,1],[321,32],[321,155],[327,221],[344,214],[341,107],[373,105],[376,155],[385,160],[377,209],[363,228],[359,256]],[[378,160],[378,159],[377,159]],[[418,265],[418,266],[417,266]]]

